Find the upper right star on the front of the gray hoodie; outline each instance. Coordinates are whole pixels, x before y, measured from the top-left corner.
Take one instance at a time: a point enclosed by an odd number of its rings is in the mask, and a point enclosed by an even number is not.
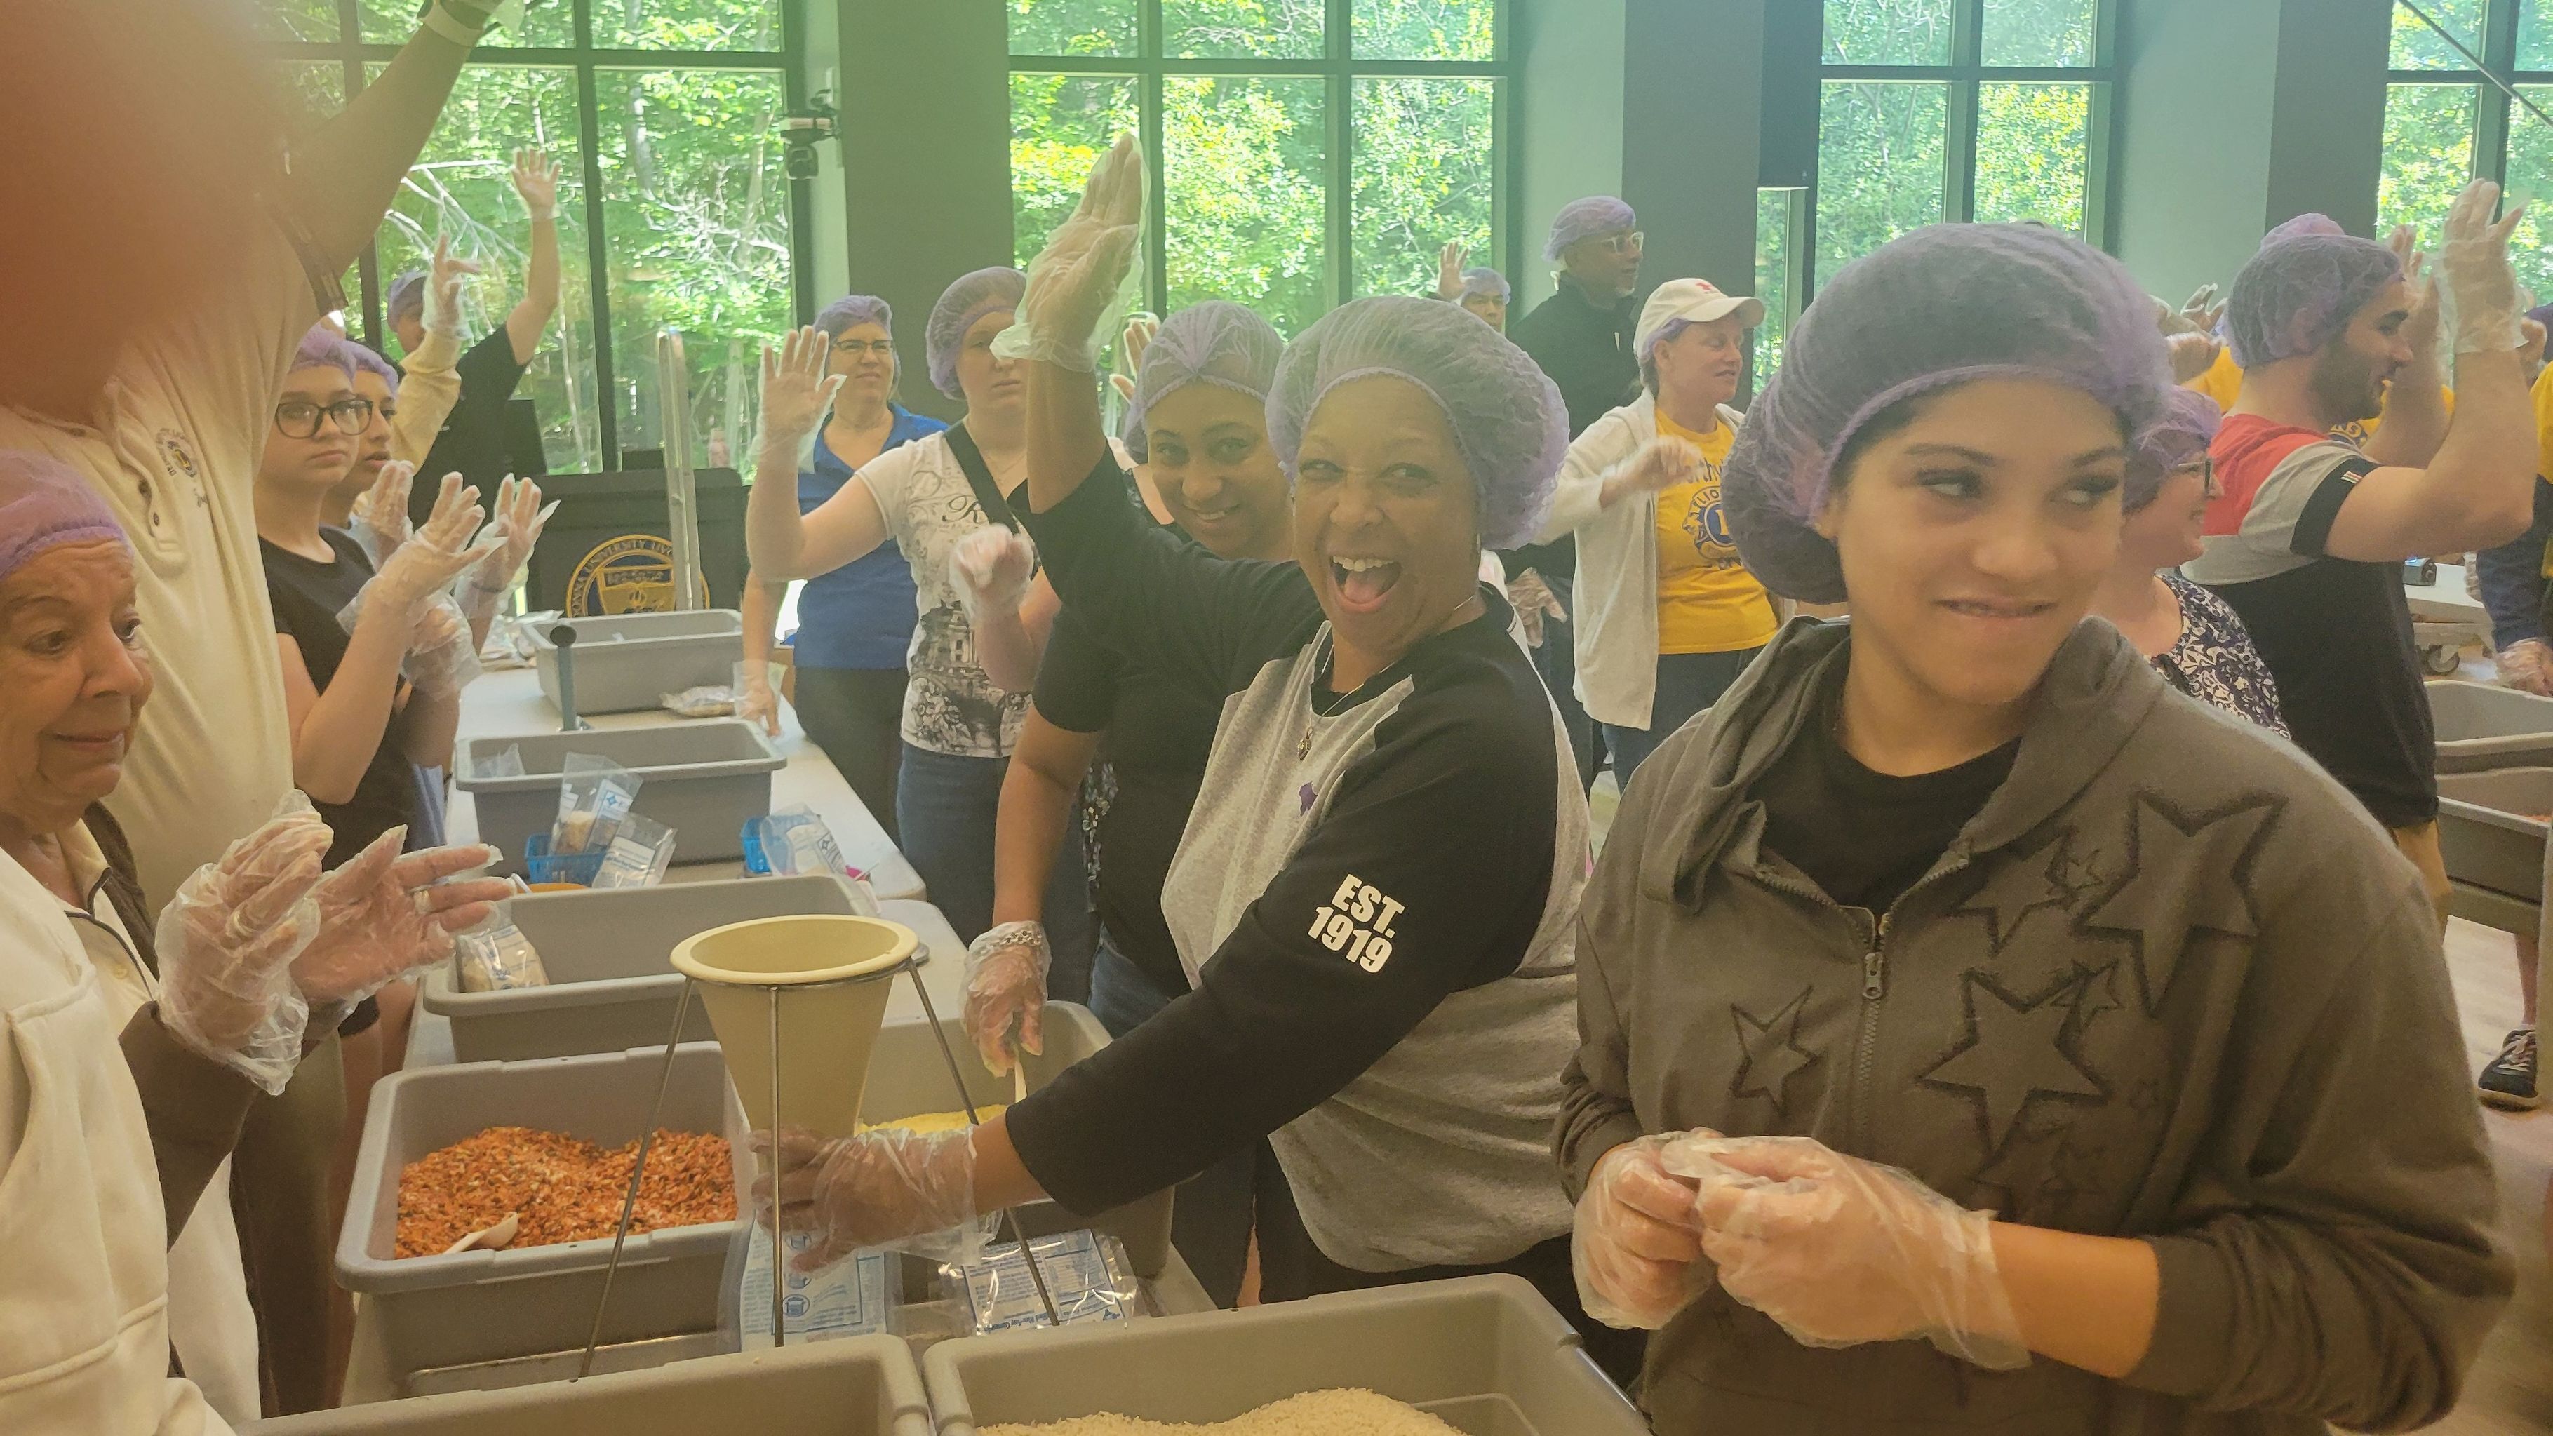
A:
[[[2216,811],[2183,814],[2157,793],[2137,793],[2127,865],[2078,918],[2078,931],[2124,936],[2134,946],[2137,997],[2147,1018],[2162,1013],[2190,934],[2259,936],[2252,860],[2282,809],[2277,796],[2247,796]]]

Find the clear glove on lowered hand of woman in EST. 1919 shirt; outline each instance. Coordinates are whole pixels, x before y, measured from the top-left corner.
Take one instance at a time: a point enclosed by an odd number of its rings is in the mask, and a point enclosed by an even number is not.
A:
[[[909,1132],[878,1127],[855,1138],[820,1138],[784,1127],[753,1132],[763,1173],[753,1204],[771,1222],[779,1196],[781,1232],[814,1232],[797,1270],[827,1268],[860,1247],[901,1242],[975,1222],[973,1132]]]

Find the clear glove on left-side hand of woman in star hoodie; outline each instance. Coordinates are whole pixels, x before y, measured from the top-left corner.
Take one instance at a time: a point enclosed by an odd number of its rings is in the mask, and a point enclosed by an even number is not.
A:
[[[1711,1288],[1693,1183],[1659,1166],[1659,1153],[1713,1135],[1636,1138],[1596,1161],[1570,1227],[1570,1270],[1588,1316],[1657,1331]]]

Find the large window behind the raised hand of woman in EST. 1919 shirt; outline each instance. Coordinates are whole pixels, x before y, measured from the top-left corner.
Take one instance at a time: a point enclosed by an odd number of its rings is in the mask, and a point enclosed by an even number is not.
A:
[[[1504,0],[1006,0],[1019,260],[1121,130],[1154,176],[1149,304],[1231,298],[1287,334],[1506,265]]]

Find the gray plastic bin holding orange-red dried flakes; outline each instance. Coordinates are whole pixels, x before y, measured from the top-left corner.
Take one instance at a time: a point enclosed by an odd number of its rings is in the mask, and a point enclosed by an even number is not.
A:
[[[585,1347],[603,1293],[610,1237],[503,1252],[398,1260],[398,1173],[488,1127],[541,1127],[605,1148],[638,1140],[664,1048],[546,1061],[485,1061],[401,1071],[373,1087],[355,1186],[337,1237],[337,1286],[373,1303],[391,1380]],[[728,1094],[712,1043],[674,1051],[661,1125],[717,1132],[751,1163],[745,1115]],[[735,1222],[633,1232],[620,1257],[605,1342],[651,1342],[717,1329],[717,1283]]]

